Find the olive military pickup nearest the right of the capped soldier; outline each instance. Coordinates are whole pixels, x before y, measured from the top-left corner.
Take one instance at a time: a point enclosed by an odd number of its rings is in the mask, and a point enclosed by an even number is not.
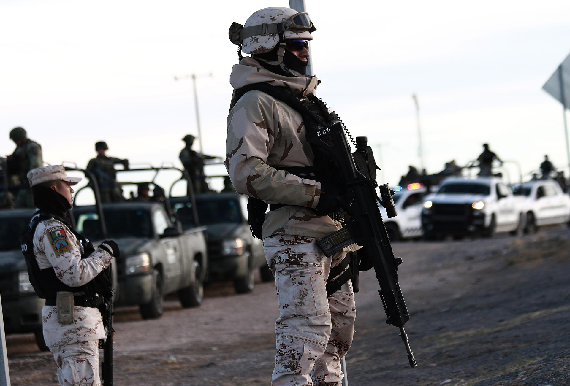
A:
[[[74,208],[76,229],[102,240],[95,206]],[[144,319],[159,318],[164,296],[176,292],[183,307],[198,306],[207,270],[205,227],[173,223],[163,203],[103,204],[105,238],[119,245],[117,306],[138,305]]]

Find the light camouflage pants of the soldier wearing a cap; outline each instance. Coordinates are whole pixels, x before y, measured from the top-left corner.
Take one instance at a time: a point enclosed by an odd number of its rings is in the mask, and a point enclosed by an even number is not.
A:
[[[50,347],[62,386],[101,386],[99,340]]]

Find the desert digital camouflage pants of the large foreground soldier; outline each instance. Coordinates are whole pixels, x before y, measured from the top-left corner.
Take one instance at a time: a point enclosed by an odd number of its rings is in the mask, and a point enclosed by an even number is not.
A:
[[[327,258],[317,240],[290,235],[263,239],[280,313],[272,386],[340,386],[343,379],[340,360],[351,346],[356,317],[352,283],[327,296],[328,273],[346,252]]]

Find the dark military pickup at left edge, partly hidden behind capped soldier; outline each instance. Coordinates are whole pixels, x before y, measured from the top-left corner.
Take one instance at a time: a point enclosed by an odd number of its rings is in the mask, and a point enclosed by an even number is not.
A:
[[[40,350],[47,351],[42,332],[45,301],[28,280],[20,245],[20,236],[34,213],[34,208],[0,211],[0,295],[6,334],[34,332]]]

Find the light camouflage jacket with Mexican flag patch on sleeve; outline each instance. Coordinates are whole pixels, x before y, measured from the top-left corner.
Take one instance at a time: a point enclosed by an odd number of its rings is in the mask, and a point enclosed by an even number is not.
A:
[[[59,280],[71,287],[87,284],[112,261],[111,254],[101,248],[82,259],[75,235],[55,219],[39,222],[34,233],[34,255],[40,269],[54,267]],[[74,323],[62,325],[56,307],[44,306],[42,322],[47,346],[88,342],[105,335],[101,313],[92,307],[74,307]]]

